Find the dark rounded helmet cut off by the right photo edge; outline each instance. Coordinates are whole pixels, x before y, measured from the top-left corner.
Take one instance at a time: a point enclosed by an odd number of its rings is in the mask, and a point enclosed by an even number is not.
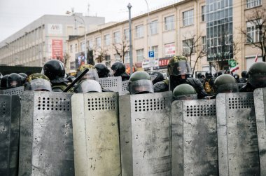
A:
[[[266,87],[266,62],[255,62],[248,69],[248,81],[254,88]]]

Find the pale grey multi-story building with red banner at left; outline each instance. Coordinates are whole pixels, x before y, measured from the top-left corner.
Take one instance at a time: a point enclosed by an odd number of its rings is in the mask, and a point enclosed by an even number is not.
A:
[[[66,40],[104,24],[104,17],[43,15],[0,43],[0,65],[42,67],[50,59],[64,61]],[[85,24],[84,24],[85,23]],[[84,44],[83,44],[84,45]]]

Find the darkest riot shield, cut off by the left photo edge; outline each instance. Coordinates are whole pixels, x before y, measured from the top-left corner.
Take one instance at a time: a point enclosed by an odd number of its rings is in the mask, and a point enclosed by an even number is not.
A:
[[[0,175],[18,175],[20,97],[0,95]]]

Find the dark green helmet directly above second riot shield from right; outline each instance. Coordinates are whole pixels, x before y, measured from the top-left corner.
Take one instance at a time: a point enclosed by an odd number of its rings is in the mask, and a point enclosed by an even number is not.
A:
[[[216,93],[237,93],[238,84],[235,78],[230,74],[222,74],[214,81]]]

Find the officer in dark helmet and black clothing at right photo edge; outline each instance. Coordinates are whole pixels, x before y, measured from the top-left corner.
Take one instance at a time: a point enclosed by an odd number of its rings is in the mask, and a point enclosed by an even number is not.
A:
[[[248,69],[248,81],[240,92],[253,92],[255,88],[266,87],[266,62],[255,62]]]

